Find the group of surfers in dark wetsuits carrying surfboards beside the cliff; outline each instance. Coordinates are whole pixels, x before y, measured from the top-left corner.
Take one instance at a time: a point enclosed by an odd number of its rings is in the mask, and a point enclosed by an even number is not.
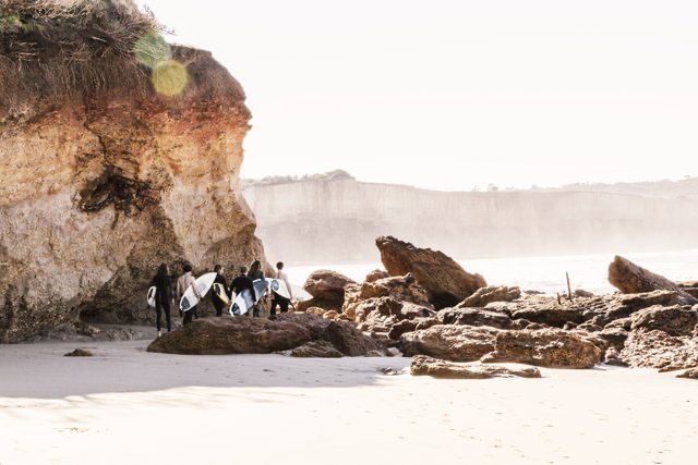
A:
[[[281,296],[277,293],[273,293],[274,297],[272,301],[270,315],[276,315],[276,308],[285,314],[288,311],[288,306],[293,298],[291,285],[288,282],[288,277],[282,271],[284,264],[276,264],[276,272],[275,279],[281,280],[285,282],[286,287],[289,291],[290,298]],[[260,299],[262,296],[257,296],[257,293],[254,289],[254,281],[264,280],[264,271],[262,270],[262,262],[260,260],[255,260],[248,270],[248,267],[240,267],[240,274],[232,280],[230,286],[228,286],[228,281],[224,276],[224,267],[221,265],[216,265],[214,267],[214,272],[216,273],[216,278],[214,280],[214,284],[220,284],[219,289],[222,289],[225,294],[227,295],[229,302],[232,302],[233,294],[239,295],[244,291],[249,291],[251,294],[251,301],[254,303],[252,307],[248,310],[248,315],[252,317],[260,317]],[[205,296],[202,296],[196,289],[196,278],[192,274],[193,267],[189,264],[185,264],[182,267],[182,274],[177,279],[176,284],[172,284],[172,277],[169,273],[168,267],[166,264],[161,264],[157,270],[157,274],[153,278],[152,286],[155,287],[155,310],[157,314],[157,332],[158,335],[161,334],[161,319],[163,313],[165,313],[165,320],[167,322],[167,331],[172,330],[172,321],[170,316],[171,305],[174,305],[174,299],[180,299],[184,295],[188,289],[192,289],[194,295],[202,302]],[[222,317],[224,309],[226,308],[227,302],[224,301],[224,296],[219,295],[216,292],[212,294],[212,303],[214,308],[216,309],[216,316]],[[171,304],[171,305],[170,305]],[[189,325],[192,322],[194,318],[198,318],[198,314],[196,310],[197,305],[191,307],[191,309],[183,311],[183,320],[182,325]],[[180,314],[182,311],[180,310]]]

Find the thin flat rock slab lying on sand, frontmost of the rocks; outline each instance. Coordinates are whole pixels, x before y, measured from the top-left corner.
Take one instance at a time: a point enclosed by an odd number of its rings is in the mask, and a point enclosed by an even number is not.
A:
[[[538,368],[509,368],[496,365],[459,364],[417,355],[410,365],[412,376],[443,379],[541,378]]]

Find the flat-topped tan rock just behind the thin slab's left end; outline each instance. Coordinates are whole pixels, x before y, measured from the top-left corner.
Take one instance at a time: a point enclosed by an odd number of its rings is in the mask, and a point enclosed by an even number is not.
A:
[[[400,338],[405,356],[429,355],[454,362],[474,362],[494,350],[500,331],[489,327],[438,325]]]

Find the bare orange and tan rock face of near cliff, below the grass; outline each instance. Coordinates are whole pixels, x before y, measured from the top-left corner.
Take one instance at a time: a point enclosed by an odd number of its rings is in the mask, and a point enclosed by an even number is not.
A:
[[[185,70],[177,95],[136,78],[37,90],[0,115],[0,341],[147,319],[160,262],[264,261],[238,187],[244,93],[208,52],[173,47],[171,60]]]

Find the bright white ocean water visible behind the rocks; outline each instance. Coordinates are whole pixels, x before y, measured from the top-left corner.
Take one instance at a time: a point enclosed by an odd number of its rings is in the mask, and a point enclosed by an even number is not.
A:
[[[569,272],[573,290],[583,289],[594,294],[615,291],[607,280],[612,254],[565,257],[516,257],[496,259],[457,260],[468,272],[482,274],[491,285],[518,285],[521,290],[541,291],[546,294],[566,292],[565,272]],[[698,281],[698,249],[665,253],[625,254],[625,258],[662,274],[673,281]],[[376,268],[373,264],[335,264],[288,267],[289,280],[303,284],[308,276],[318,269],[329,269],[363,281],[366,273]]]

